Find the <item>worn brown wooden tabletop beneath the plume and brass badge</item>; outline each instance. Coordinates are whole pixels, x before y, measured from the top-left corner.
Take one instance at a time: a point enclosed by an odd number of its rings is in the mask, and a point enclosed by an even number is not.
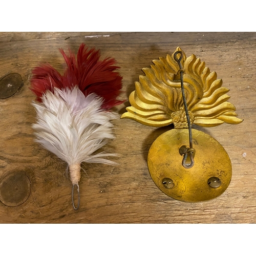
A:
[[[256,33],[244,32],[0,33],[0,77],[18,73],[24,81],[13,96],[0,99],[0,191],[9,189],[14,197],[12,206],[0,202],[0,223],[256,223],[255,39]],[[66,163],[34,142],[31,101],[35,96],[29,79],[40,62],[61,71],[58,48],[76,52],[82,42],[100,49],[102,57],[117,60],[123,77],[122,100],[135,90],[142,68],[178,46],[217,72],[230,89],[229,101],[238,117],[244,119],[238,125],[194,126],[218,140],[230,157],[232,180],[220,197],[186,203],[163,194],[148,173],[146,158],[153,141],[169,127],[117,119],[116,139],[104,150],[119,153],[120,158],[112,159],[119,165],[84,164],[87,174],[82,172],[80,181],[80,207],[73,209]],[[113,111],[121,115],[129,105],[126,101]],[[17,177],[24,179],[22,184],[11,186],[19,181]],[[22,199],[12,193],[23,193],[28,199],[19,202]]]

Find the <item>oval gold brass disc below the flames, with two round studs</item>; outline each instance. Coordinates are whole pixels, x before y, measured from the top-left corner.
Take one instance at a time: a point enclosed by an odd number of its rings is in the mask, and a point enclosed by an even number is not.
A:
[[[147,156],[148,170],[163,193],[185,202],[206,201],[220,196],[228,187],[232,168],[222,145],[203,132],[192,129],[195,164],[182,165],[179,149],[189,147],[187,129],[170,130],[159,136]]]

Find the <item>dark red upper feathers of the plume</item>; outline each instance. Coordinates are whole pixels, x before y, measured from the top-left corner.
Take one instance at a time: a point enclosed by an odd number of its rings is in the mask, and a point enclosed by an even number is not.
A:
[[[108,110],[123,103],[116,99],[121,92],[122,77],[118,72],[114,72],[120,68],[115,66],[114,58],[99,60],[100,51],[89,49],[84,44],[79,47],[77,59],[71,50],[68,53],[62,49],[59,51],[67,63],[63,76],[49,64],[36,67],[32,71],[30,90],[37,96],[36,100],[41,102],[41,96],[47,90],[54,92],[53,88],[65,89],[78,86],[86,96],[96,93],[102,97],[103,109]]]

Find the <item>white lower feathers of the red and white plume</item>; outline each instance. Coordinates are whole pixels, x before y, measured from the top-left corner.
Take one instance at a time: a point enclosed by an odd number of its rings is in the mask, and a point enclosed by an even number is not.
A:
[[[103,99],[96,94],[87,97],[75,87],[47,91],[42,102],[33,102],[37,122],[33,124],[37,142],[69,165],[81,162],[116,164],[102,157],[117,154],[101,152],[92,155],[113,139],[111,120],[116,115],[101,109]]]

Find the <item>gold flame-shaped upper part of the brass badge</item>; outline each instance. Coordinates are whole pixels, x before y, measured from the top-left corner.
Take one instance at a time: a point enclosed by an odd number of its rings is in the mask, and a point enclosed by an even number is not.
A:
[[[176,51],[182,51],[179,47]],[[176,52],[175,51],[175,52]],[[174,123],[175,127],[186,126],[186,116],[180,85],[180,69],[174,54],[159,57],[151,68],[143,68],[145,76],[135,82],[135,91],[130,94],[132,106],[126,108],[121,118],[130,118],[149,126],[165,126]],[[183,52],[183,51],[182,51]],[[210,72],[194,54],[186,58],[183,52],[184,90],[191,124],[204,127],[220,125],[224,122],[241,123],[234,112],[236,108],[227,100],[227,88],[222,87],[222,79],[216,72]]]

